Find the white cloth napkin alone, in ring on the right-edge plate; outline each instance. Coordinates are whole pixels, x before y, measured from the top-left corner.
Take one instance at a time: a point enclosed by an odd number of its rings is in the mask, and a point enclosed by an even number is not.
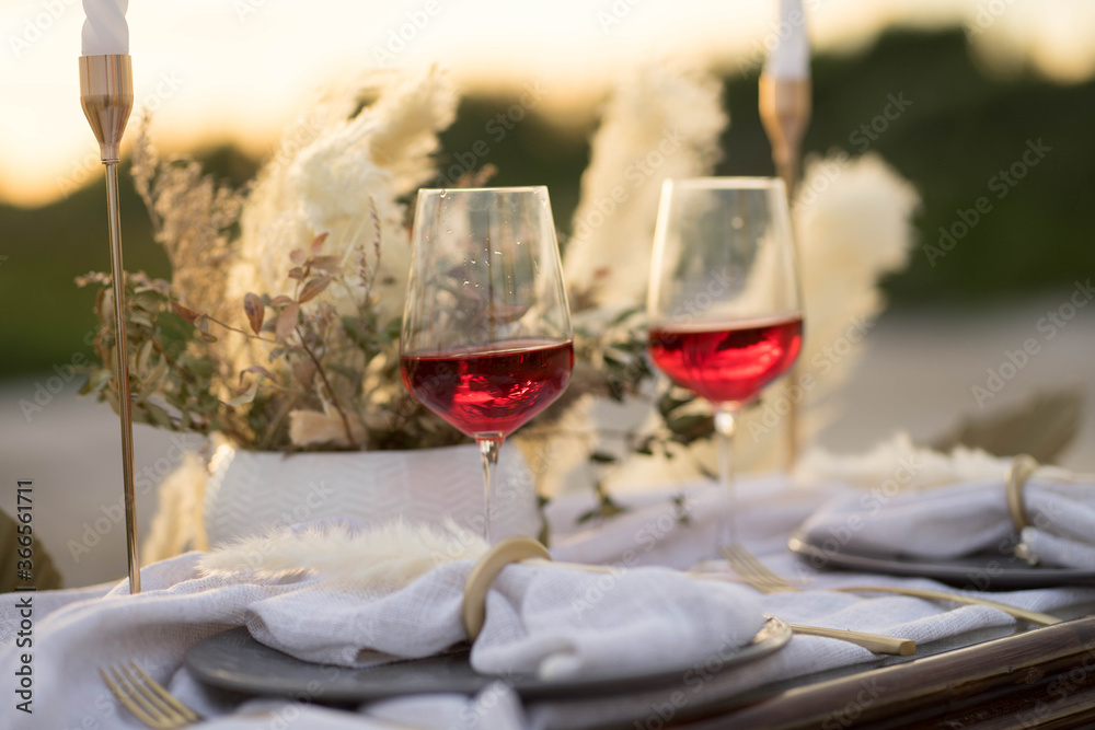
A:
[[[1095,569],[1095,484],[1035,475],[1024,488],[1024,503],[1030,525],[1019,538],[1027,554],[1049,566]],[[1000,479],[850,490],[820,507],[802,530],[810,542],[833,549],[918,558],[1007,556],[1016,545]]]

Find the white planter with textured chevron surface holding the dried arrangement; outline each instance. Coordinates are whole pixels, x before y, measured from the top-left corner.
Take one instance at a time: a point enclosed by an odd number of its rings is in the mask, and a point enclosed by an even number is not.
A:
[[[210,547],[324,518],[370,525],[400,517],[434,524],[452,518],[475,532],[482,525],[483,466],[474,444],[281,454],[221,443],[209,472],[203,512]],[[492,524],[495,540],[539,530],[533,477],[514,444],[502,450]]]

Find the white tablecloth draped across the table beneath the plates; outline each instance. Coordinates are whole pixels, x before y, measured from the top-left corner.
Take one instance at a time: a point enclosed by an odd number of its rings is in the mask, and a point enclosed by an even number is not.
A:
[[[863,583],[863,576],[818,573],[799,563],[785,548],[789,532],[831,493],[796,490],[780,478],[742,479],[739,483],[740,537],[776,571],[826,586]],[[672,500],[676,493],[650,493],[630,501],[634,509],[603,525],[575,526],[575,517],[588,509],[588,498],[562,499],[551,508],[555,528],[553,555],[558,560],[609,563],[622,567],[664,565],[687,568],[711,557],[714,532],[715,488],[696,487],[683,507]],[[103,599],[124,583],[74,591],[35,594],[33,598],[34,715],[14,709],[9,699],[0,706],[0,726],[20,728],[139,728],[120,709],[96,674],[96,667],[136,660],[188,705],[216,718],[206,727],[247,730],[307,727],[316,730],[370,728],[369,716],[429,728],[593,727],[615,720],[631,722],[658,718],[662,722],[714,698],[811,672],[871,662],[869,652],[832,639],[796,636],[782,651],[757,662],[747,671],[718,674],[726,647],[713,637],[711,653],[682,674],[679,683],[658,692],[618,699],[554,702],[521,706],[504,686],[492,686],[477,698],[419,697],[359,708],[357,712],[330,710],[308,703],[251,700],[240,704],[198,685],[182,668],[187,649],[203,638],[242,625],[246,606],[291,590],[279,581],[249,582],[226,587],[224,577],[196,577],[194,556],[182,556],[143,571],[145,600],[162,601],[162,611],[127,610],[126,599]],[[884,579],[876,584],[934,587],[929,580]],[[611,582],[611,581],[609,581]],[[198,598],[203,589],[217,587],[234,596],[231,609],[212,611]],[[606,583],[603,590],[611,591]],[[193,594],[193,599],[189,598]],[[1017,606],[1052,612],[1062,606],[1095,601],[1095,590],[1053,589],[996,593],[994,599]],[[94,612],[96,602],[114,601],[111,612]],[[835,628],[856,628],[911,638],[919,644],[953,637],[978,628],[1006,627],[1013,619],[992,609],[954,607],[901,596],[864,598],[811,590],[759,596],[765,613],[785,621]],[[19,665],[14,646],[20,630],[18,596],[0,596],[0,688],[11,686]],[[12,688],[14,688],[12,686]],[[299,718],[299,719],[298,719]],[[370,725],[372,722],[372,725]],[[87,723],[87,725],[85,725]],[[299,725],[298,725],[299,723]],[[390,727],[387,726],[387,727]]]

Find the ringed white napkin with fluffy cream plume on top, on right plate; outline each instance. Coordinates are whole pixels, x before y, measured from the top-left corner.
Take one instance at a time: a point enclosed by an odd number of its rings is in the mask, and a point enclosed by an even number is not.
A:
[[[946,559],[1010,556],[1021,546],[1033,561],[1095,569],[1095,475],[1038,467],[1023,489],[1030,525],[1016,535],[1005,486],[1012,463],[964,447],[919,448],[904,433],[862,454],[815,449],[795,480],[835,495],[802,530],[826,551]]]

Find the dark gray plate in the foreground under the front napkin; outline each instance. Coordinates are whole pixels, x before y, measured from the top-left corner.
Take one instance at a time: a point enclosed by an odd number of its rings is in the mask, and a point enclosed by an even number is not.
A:
[[[719,672],[734,670],[783,648],[791,628],[769,618],[752,641],[722,663]],[[468,651],[403,661],[369,669],[313,664],[260,644],[245,627],[233,628],[195,645],[185,663],[199,681],[250,695],[308,698],[310,702],[360,703],[400,695],[459,693],[472,695],[496,679],[477,673]],[[600,697],[629,694],[680,683],[693,665],[667,667],[656,672],[621,668],[614,676],[543,681],[535,676],[505,676],[525,699]]]

